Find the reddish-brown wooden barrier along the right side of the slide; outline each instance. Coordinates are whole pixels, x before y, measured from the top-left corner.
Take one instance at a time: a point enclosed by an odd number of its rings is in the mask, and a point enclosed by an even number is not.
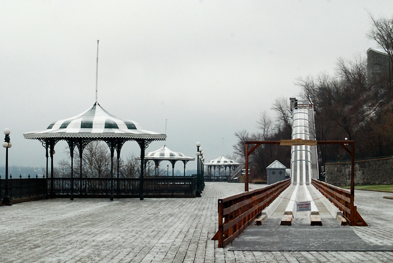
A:
[[[315,186],[330,202],[332,202],[340,211],[343,217],[351,226],[367,226],[367,223],[359,214],[351,196],[351,191],[337,186],[326,184],[315,179],[311,180],[311,184]],[[352,201],[352,202],[351,202]]]

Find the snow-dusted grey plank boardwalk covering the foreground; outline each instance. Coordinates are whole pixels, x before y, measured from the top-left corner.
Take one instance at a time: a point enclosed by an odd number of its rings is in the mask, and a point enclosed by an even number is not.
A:
[[[217,248],[210,240],[217,228],[217,199],[243,190],[244,184],[208,182],[201,198],[55,199],[0,207],[0,262],[393,262],[393,252]],[[383,199],[386,195],[393,194],[355,194],[369,227],[353,229],[370,244],[393,245],[393,200]]]

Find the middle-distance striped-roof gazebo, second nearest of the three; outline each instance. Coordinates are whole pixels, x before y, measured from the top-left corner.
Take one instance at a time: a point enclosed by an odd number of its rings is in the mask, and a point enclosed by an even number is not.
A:
[[[174,152],[170,150],[167,145],[164,145],[160,149],[154,152],[149,152],[144,157],[145,163],[149,160],[153,160],[155,164],[154,175],[157,176],[159,174],[159,166],[160,162],[164,160],[168,160],[172,164],[172,176],[175,173],[175,163],[177,161],[182,161],[184,163],[184,176],[186,176],[186,164],[189,161],[195,160],[195,158],[187,157],[182,153]]]

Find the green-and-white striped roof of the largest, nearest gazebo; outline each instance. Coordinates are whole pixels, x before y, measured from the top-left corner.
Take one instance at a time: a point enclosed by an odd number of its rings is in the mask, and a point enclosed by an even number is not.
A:
[[[56,121],[46,130],[27,132],[27,139],[58,138],[58,137],[119,137],[130,139],[165,140],[165,134],[150,132],[136,122],[119,119],[106,111],[97,102],[81,114]]]

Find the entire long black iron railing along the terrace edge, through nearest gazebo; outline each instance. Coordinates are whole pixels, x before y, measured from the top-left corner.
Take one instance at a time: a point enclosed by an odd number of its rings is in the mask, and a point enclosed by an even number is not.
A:
[[[8,194],[10,199],[46,195],[50,197],[67,197],[71,192],[75,197],[99,197],[111,194],[113,182],[113,195],[116,197],[138,197],[140,194],[139,178],[54,178],[53,190],[51,178],[12,178],[8,179]],[[4,196],[6,180],[0,177],[0,200]],[[73,186],[73,187],[72,187]],[[157,195],[195,195],[197,189],[204,188],[203,176],[170,176],[145,177],[143,193],[146,196]]]

